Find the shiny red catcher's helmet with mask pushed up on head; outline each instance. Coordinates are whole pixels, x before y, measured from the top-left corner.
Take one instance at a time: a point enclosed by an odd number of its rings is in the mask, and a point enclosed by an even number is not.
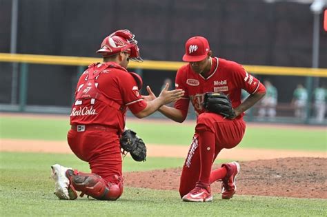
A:
[[[97,53],[102,54],[102,56],[111,56],[119,52],[128,52],[132,61],[141,62],[143,59],[139,56],[139,47],[134,38],[135,35],[129,30],[117,30],[103,39],[101,48],[97,50]]]

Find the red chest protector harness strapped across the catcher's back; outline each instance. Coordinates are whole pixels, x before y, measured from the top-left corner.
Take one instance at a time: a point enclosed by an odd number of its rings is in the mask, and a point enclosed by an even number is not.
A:
[[[75,105],[77,105],[79,101],[90,99],[91,105],[94,104],[97,100],[101,101],[102,103],[106,103],[110,107],[115,107],[115,109],[117,110],[126,110],[126,107],[124,105],[120,105],[119,103],[108,99],[106,94],[104,94],[97,88],[98,83],[96,83],[96,80],[99,76],[101,76],[101,72],[103,72],[103,70],[106,70],[107,68],[116,68],[116,66],[108,64],[99,65],[98,63],[89,65],[88,70],[86,70],[86,73],[88,73],[88,75],[86,76],[84,83],[79,85],[79,89],[77,90],[77,94],[75,96]]]

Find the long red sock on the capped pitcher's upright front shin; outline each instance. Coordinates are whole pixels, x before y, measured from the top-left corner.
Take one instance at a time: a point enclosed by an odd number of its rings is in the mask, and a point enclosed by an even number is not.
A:
[[[200,176],[201,183],[210,184],[210,172],[215,157],[215,134],[210,131],[199,133],[199,152],[200,152]]]

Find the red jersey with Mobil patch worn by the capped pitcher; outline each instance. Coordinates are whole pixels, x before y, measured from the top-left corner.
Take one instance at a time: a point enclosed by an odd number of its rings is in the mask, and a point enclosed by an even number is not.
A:
[[[264,92],[265,87],[254,76],[248,74],[238,63],[212,57],[212,66],[208,78],[195,73],[190,64],[177,71],[175,85],[185,91],[183,98],[175,103],[175,108],[181,110],[186,117],[189,102],[195,107],[197,115],[204,112],[204,94],[206,92],[224,92],[232,101],[232,107],[241,104],[241,89],[249,94]],[[241,114],[238,118],[241,118]]]

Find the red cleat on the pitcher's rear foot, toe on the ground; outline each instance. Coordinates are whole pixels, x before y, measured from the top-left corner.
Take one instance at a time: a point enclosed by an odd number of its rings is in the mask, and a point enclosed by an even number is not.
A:
[[[221,198],[230,199],[236,192],[236,177],[239,174],[241,166],[236,161],[221,165],[226,167],[227,174],[221,183]]]

